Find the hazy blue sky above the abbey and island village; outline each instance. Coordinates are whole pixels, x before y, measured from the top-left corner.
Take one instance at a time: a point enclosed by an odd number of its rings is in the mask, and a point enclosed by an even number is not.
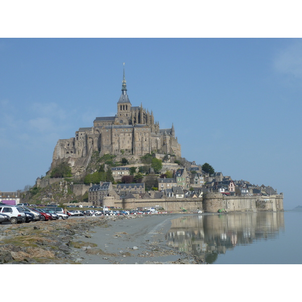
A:
[[[34,185],[58,139],[132,106],[174,123],[182,156],[302,205],[302,40],[0,39],[0,190]]]

